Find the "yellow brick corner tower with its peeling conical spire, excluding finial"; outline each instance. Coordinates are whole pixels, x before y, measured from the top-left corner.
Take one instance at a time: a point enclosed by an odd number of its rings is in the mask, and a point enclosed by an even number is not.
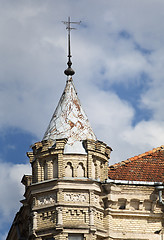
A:
[[[71,76],[43,140],[32,150],[32,184],[30,176],[23,178],[31,239],[101,239],[101,183],[108,179],[111,148],[96,139]]]

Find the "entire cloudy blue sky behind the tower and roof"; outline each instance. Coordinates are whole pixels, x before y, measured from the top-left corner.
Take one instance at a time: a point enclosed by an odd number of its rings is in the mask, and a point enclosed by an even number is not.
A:
[[[0,0],[0,239],[20,208],[26,152],[74,84],[109,164],[164,144],[163,0]]]

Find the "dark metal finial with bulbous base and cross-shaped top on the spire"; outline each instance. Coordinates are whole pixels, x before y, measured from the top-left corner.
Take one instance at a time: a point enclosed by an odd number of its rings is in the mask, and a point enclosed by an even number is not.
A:
[[[66,29],[68,30],[68,62],[67,62],[67,65],[68,65],[68,68],[64,71],[65,75],[67,76],[72,76],[75,74],[75,71],[71,68],[72,66],[72,62],[71,62],[71,41],[70,41],[70,32],[72,29],[76,29],[76,28],[72,28],[71,27],[71,23],[73,24],[80,24],[80,22],[71,22],[70,21],[70,17],[68,17],[68,22],[66,21],[63,21],[64,24],[67,25]]]

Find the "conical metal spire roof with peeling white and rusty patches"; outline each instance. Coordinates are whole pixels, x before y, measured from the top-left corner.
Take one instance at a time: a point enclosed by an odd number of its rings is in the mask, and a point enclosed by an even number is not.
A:
[[[86,139],[96,140],[70,76],[43,140],[51,139],[55,142],[61,138],[67,138],[69,145]]]

